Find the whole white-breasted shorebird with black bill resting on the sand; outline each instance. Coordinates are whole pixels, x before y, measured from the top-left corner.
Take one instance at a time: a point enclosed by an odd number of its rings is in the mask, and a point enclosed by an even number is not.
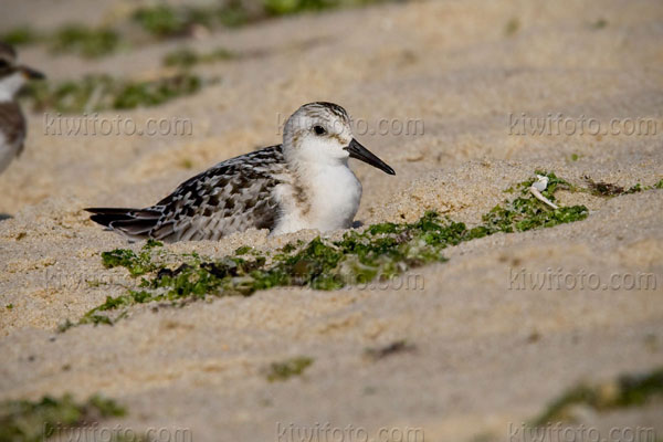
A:
[[[309,103],[285,123],[283,144],[221,161],[155,206],[85,210],[129,239],[168,242],[219,240],[250,228],[271,234],[347,229],[361,199],[348,158],[396,175],[354,138],[343,107]]]

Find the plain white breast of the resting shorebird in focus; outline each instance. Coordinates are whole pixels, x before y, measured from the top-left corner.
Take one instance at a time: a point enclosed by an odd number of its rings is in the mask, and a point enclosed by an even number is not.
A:
[[[361,200],[361,183],[347,165],[308,169],[298,186],[302,189],[290,183],[277,189],[283,212],[273,234],[302,229],[325,232],[351,225]]]

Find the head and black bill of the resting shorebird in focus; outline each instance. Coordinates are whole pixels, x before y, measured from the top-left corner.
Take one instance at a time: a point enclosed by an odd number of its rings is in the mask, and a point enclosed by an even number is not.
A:
[[[283,141],[286,155],[297,160],[334,165],[357,158],[396,175],[355,139],[347,112],[333,103],[316,102],[299,107],[285,123]]]

